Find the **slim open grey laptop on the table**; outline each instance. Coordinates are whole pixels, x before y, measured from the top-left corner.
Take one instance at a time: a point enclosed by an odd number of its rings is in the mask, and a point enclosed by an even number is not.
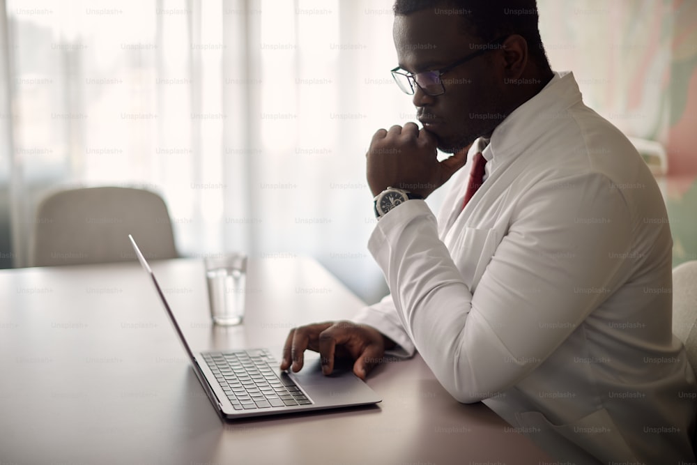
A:
[[[381,402],[380,397],[350,370],[323,375],[319,359],[306,363],[299,373],[292,373],[280,370],[267,349],[192,351],[153,270],[133,237],[129,234],[128,238],[140,264],[152,279],[194,373],[223,418],[232,420]]]

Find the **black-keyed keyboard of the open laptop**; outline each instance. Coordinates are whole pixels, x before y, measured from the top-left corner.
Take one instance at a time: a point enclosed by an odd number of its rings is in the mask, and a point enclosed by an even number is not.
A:
[[[266,349],[206,352],[204,360],[236,410],[312,404]]]

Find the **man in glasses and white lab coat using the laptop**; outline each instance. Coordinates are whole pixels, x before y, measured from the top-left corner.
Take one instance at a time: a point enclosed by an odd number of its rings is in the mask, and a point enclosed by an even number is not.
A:
[[[418,350],[453,397],[560,460],[693,462],[661,194],[551,71],[535,1],[397,0],[394,39],[423,128],[378,130],[367,153],[369,250],[391,294],[355,322],[291,330],[281,367],[312,349],[325,373],[348,356],[365,379],[385,350]],[[436,220],[422,198],[453,175]]]

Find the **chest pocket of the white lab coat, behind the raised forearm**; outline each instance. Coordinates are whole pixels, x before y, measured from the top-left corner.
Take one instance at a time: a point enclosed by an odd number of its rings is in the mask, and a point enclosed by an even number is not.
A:
[[[497,246],[496,229],[465,227],[455,239],[453,247],[450,247],[455,264],[470,291],[474,292],[477,288]]]

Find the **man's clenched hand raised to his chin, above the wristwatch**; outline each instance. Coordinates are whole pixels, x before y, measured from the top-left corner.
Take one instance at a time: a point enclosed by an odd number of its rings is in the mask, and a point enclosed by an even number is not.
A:
[[[419,130],[416,123],[406,123],[404,128],[394,125],[390,130],[378,130],[365,156],[366,177],[373,196],[392,187],[425,199],[465,165],[467,150],[439,162],[436,137]]]

